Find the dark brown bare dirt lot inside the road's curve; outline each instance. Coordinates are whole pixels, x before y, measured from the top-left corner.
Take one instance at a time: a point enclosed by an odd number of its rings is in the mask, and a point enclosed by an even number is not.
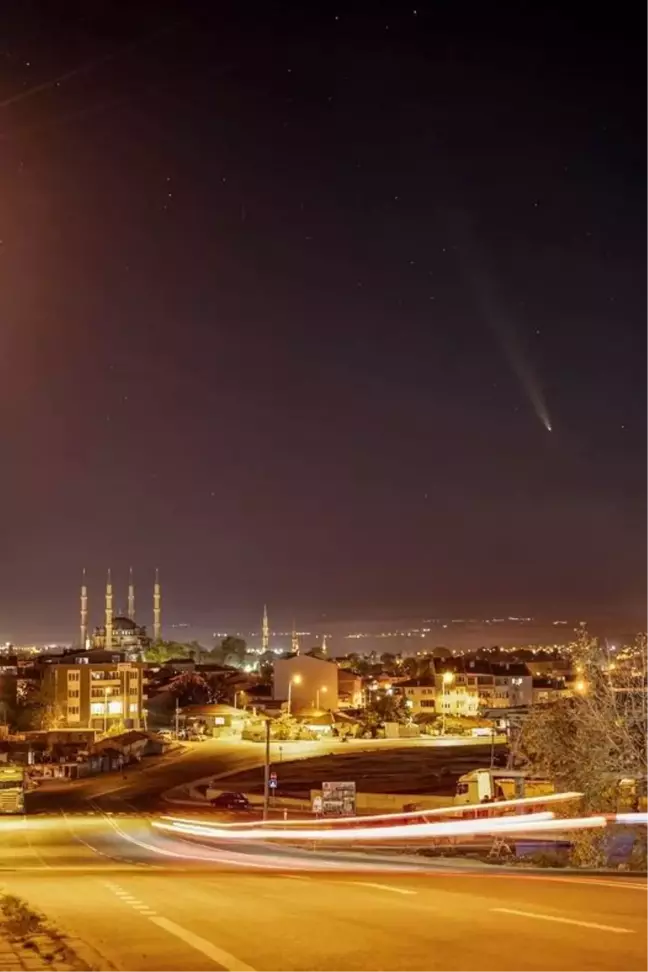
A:
[[[501,757],[503,746],[496,747]],[[490,765],[490,747],[390,749],[383,752],[338,753],[293,762],[275,762],[278,795],[307,799],[323,780],[355,780],[364,793],[454,793],[457,778]],[[227,788],[244,793],[263,791],[263,769],[231,776]]]

